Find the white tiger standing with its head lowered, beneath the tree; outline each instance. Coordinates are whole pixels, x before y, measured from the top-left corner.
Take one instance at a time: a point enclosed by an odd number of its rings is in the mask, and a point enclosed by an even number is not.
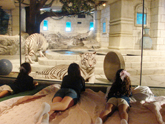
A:
[[[33,55],[36,56],[36,52],[38,51],[41,57],[44,57],[43,52],[46,51],[49,44],[45,37],[41,34],[35,33],[31,34],[25,40],[25,62],[29,61],[30,63],[34,63],[31,57]]]

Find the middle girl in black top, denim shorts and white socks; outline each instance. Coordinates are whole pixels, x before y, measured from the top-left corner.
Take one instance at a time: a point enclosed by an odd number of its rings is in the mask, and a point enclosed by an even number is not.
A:
[[[68,75],[62,80],[61,89],[52,99],[53,103],[43,103],[42,110],[35,115],[35,122],[43,116],[42,123],[48,124],[49,114],[54,115],[54,112],[64,111],[75,105],[82,91],[85,91],[85,80],[81,76],[79,65],[72,63],[68,68]]]

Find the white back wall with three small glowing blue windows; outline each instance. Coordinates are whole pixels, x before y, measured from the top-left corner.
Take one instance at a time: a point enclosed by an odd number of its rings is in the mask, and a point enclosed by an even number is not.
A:
[[[42,32],[43,34],[56,34],[57,32],[60,32],[61,34],[71,36],[76,35],[78,33],[86,33],[87,31],[89,31],[90,22],[93,22],[93,18],[90,15],[86,15],[85,18],[78,18],[77,16],[66,16],[59,20],[57,17],[48,17],[45,18],[45,20],[48,20],[48,30],[43,30],[42,21],[40,26],[40,32]],[[70,32],[65,31],[66,22],[68,21],[71,22]],[[78,24],[78,22],[81,24]]]

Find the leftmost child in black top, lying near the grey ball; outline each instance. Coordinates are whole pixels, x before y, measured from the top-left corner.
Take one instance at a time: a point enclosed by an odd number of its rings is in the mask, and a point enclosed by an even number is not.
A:
[[[31,66],[29,63],[21,64],[20,73],[18,74],[14,83],[0,87],[0,98],[9,94],[33,90],[36,83],[34,84],[33,78],[29,76],[30,72]]]

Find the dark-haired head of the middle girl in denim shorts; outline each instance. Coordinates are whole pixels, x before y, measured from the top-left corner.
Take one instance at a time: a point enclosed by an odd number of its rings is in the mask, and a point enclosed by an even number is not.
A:
[[[68,67],[68,75],[79,77],[81,75],[79,65],[76,63],[71,63]]]

